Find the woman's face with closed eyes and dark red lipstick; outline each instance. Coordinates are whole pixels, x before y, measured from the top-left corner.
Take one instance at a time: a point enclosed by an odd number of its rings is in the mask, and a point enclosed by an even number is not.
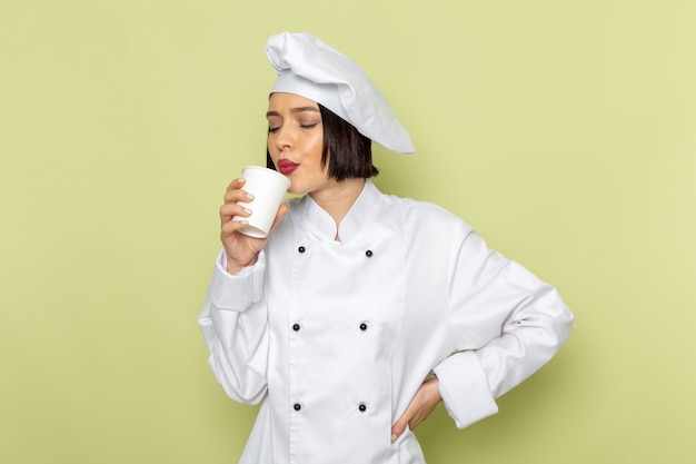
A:
[[[289,192],[316,194],[335,184],[327,175],[328,162],[321,166],[324,127],[316,101],[294,93],[272,93],[266,117],[268,152],[276,169],[290,179]]]

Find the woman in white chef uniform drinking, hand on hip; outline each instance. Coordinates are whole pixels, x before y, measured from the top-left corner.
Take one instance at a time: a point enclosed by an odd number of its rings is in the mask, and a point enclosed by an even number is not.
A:
[[[425,463],[412,428],[440,401],[460,428],[495,414],[573,314],[458,217],[377,189],[371,144],[415,149],[352,60],[306,33],[266,52],[267,155],[305,195],[251,238],[253,199],[228,186],[198,319],[225,392],[262,403],[240,462]]]

